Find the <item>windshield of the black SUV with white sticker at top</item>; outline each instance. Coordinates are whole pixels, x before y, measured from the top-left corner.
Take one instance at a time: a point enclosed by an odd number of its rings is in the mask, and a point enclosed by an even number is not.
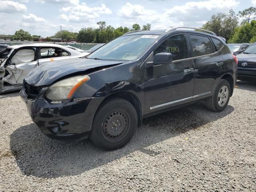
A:
[[[121,36],[102,46],[88,59],[101,60],[134,60],[138,58],[159,35]]]

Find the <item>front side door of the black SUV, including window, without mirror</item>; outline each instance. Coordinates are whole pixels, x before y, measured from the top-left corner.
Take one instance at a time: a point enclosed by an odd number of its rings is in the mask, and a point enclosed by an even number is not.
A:
[[[194,64],[189,54],[186,34],[175,34],[162,42],[148,56],[145,63],[152,62],[157,53],[172,54],[171,64],[160,64],[145,69],[146,113],[189,102],[193,98]]]

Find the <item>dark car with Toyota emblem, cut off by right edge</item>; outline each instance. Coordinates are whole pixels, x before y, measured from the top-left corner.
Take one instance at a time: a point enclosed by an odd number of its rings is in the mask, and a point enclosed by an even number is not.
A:
[[[256,43],[249,46],[238,59],[238,80],[256,81]]]

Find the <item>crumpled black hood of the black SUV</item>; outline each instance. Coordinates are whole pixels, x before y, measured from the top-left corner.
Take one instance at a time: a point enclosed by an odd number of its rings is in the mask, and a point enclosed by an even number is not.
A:
[[[108,66],[122,64],[120,61],[103,61],[85,58],[66,59],[62,61],[50,62],[44,66],[33,69],[25,78],[25,81],[33,86],[50,85],[58,79],[85,72],[89,69],[102,69]],[[90,70],[91,71],[91,70]]]

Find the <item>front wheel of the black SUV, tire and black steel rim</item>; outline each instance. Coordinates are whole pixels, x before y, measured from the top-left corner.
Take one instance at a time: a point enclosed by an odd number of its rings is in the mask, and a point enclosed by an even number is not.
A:
[[[138,116],[134,106],[122,98],[113,98],[96,113],[89,139],[99,148],[116,150],[132,139],[137,126]]]

